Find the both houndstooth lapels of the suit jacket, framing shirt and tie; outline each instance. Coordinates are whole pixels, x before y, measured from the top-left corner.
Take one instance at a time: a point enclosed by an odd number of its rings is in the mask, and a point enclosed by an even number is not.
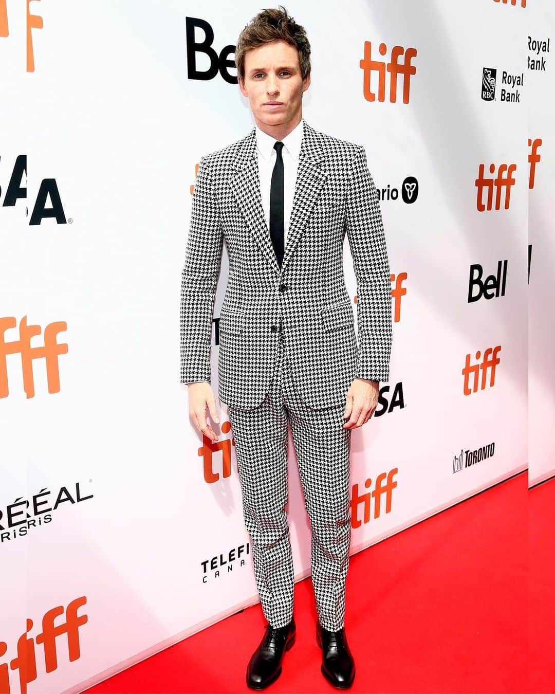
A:
[[[281,271],[283,271],[307,227],[310,214],[328,176],[328,171],[323,165],[325,155],[318,144],[316,131],[304,119],[302,120],[302,128],[295,194],[293,195],[293,206]],[[255,128],[250,131],[241,148],[237,151],[237,158],[233,167],[234,173],[230,176],[229,185],[237,204],[241,208],[247,226],[266,260],[273,269],[280,272],[262,207]]]

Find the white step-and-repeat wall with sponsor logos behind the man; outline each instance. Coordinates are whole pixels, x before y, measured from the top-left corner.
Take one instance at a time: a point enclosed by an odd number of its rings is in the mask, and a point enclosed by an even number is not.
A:
[[[179,303],[198,162],[254,125],[234,44],[259,9],[0,0],[1,692],[82,691],[258,600],[225,405],[203,439],[179,383]],[[352,432],[357,552],[524,470],[528,425],[536,476],[553,465],[554,18],[287,10],[311,42],[303,117],[364,145],[386,229],[391,379]],[[355,306],[347,239],[344,264]],[[224,246],[216,396],[227,275]],[[289,480],[301,578],[291,436]]]

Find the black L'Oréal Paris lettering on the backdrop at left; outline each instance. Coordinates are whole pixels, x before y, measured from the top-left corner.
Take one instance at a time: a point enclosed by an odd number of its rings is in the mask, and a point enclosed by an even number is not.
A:
[[[74,505],[92,498],[94,495],[85,493],[80,482],[60,486],[57,491],[44,487],[33,496],[18,496],[6,507],[0,507],[0,544],[17,540],[33,528],[51,523],[53,514],[60,506]]]

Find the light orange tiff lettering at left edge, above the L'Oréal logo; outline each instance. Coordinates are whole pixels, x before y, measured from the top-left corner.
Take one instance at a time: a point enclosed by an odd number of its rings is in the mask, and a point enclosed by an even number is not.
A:
[[[27,316],[19,321],[19,339],[6,342],[6,330],[15,328],[17,321],[11,316],[0,318],[0,398],[8,397],[8,354],[19,354],[22,359],[23,386],[27,398],[35,396],[35,382],[33,378],[33,359],[46,360],[46,379],[49,393],[60,392],[60,369],[58,367],[58,355],[67,354],[67,344],[56,342],[58,332],[67,330],[65,321],[49,323],[44,328],[44,345],[31,347],[31,337],[40,335],[40,325],[27,325]],[[1,690],[0,690],[1,691]]]

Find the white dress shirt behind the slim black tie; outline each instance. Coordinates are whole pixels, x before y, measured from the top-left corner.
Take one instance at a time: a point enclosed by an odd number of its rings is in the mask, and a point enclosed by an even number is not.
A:
[[[260,128],[256,128],[256,144],[258,151],[258,171],[260,176],[260,194],[262,195],[262,208],[266,217],[266,226],[270,228],[270,188],[275,158],[278,153],[273,149],[275,137],[267,135]],[[287,244],[287,232],[289,231],[289,217],[293,206],[295,183],[297,180],[297,166],[300,154],[300,141],[302,139],[302,118],[298,124],[280,142],[283,142],[283,226],[284,248]]]

